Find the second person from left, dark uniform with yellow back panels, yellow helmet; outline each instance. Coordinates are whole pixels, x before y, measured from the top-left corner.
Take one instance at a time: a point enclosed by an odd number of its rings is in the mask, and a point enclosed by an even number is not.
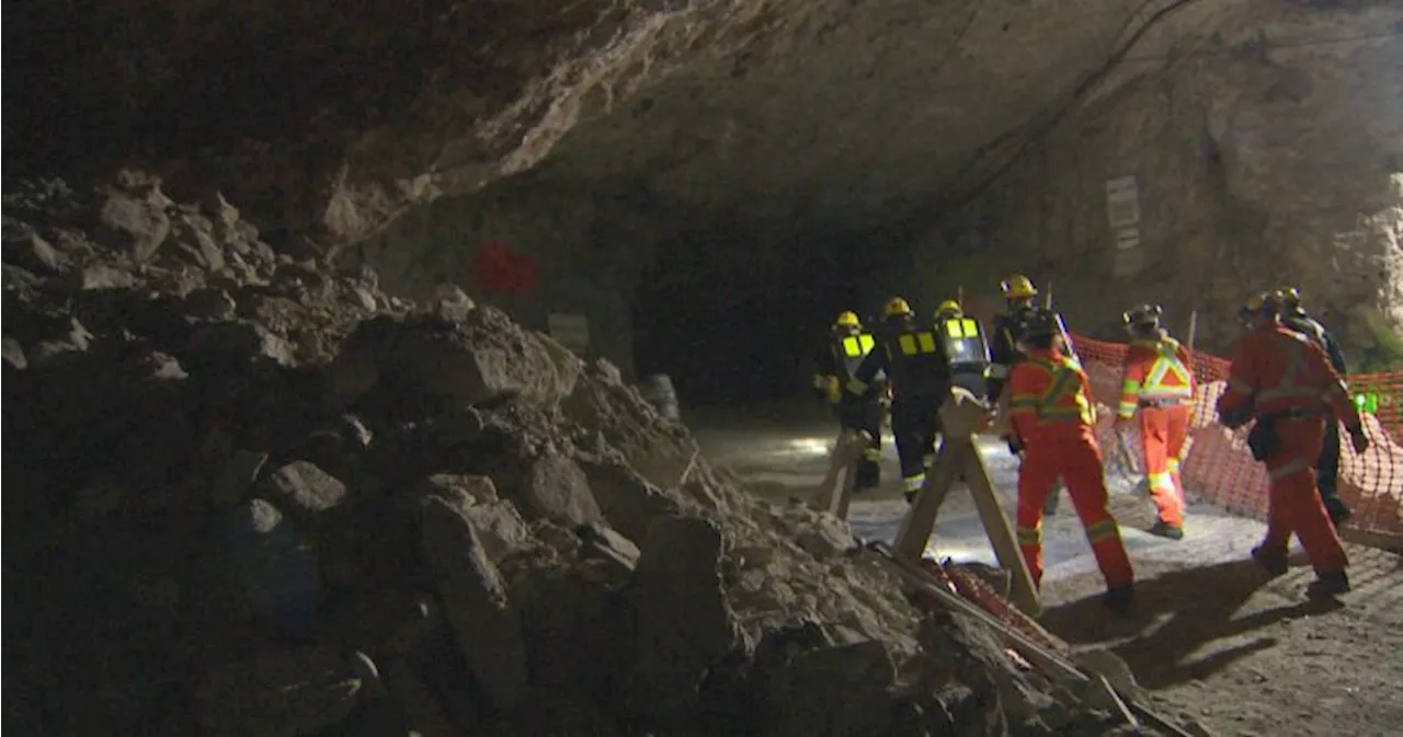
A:
[[[853,371],[847,391],[870,395],[878,374],[887,374],[891,384],[891,434],[911,503],[925,485],[926,468],[934,457],[937,413],[950,392],[950,367],[934,332],[916,325],[911,304],[901,297],[887,301],[877,347]]]

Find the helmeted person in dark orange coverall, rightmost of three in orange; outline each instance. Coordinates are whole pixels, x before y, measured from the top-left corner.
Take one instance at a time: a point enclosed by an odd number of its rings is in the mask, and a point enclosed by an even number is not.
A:
[[[1253,294],[1242,307],[1246,335],[1218,399],[1228,427],[1256,419],[1247,436],[1253,458],[1267,465],[1267,534],[1251,558],[1274,576],[1287,572],[1287,544],[1301,538],[1316,580],[1306,595],[1329,598],[1350,590],[1350,565],[1316,490],[1315,462],[1324,440],[1327,408],[1345,423],[1357,453],[1369,447],[1344,380],[1319,346],[1281,325],[1270,293]]]

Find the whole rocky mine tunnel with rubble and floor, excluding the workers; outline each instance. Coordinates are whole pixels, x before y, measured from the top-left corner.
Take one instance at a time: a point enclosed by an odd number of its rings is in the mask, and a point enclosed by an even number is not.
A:
[[[1264,475],[1209,418],[1181,544],[1106,441],[1138,614],[1106,619],[1063,503],[1040,622],[1166,733],[1397,734],[1397,3],[0,24],[0,734],[1124,734],[853,549],[906,514],[890,441],[846,521],[790,502],[836,430],[805,397],[833,317],[988,321],[1014,272],[1101,346],[1103,405],[1124,310],[1225,354],[1280,284],[1379,383],[1344,608],[1247,562]],[[1019,460],[978,450],[1012,511]],[[998,563],[969,492],[947,507],[929,552]]]

